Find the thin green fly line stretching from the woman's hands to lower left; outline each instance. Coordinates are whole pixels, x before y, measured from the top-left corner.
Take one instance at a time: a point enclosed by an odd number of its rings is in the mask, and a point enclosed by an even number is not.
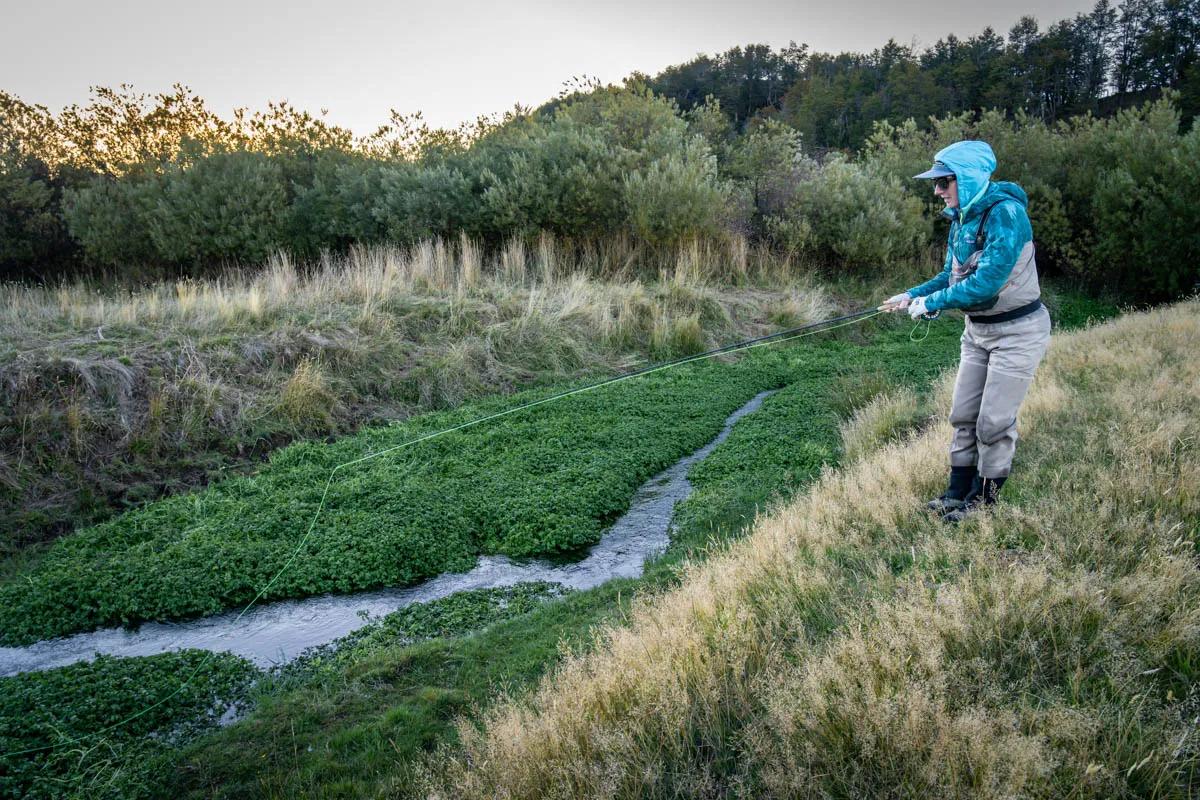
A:
[[[736,351],[739,351],[739,350],[750,350],[752,348],[763,347],[763,345],[767,345],[767,344],[780,344],[782,342],[791,342],[791,341],[794,341],[794,339],[804,338],[805,336],[814,336],[816,333],[823,333],[826,331],[832,331],[832,330],[836,330],[839,327],[845,327],[846,325],[853,325],[856,323],[860,323],[860,321],[870,319],[872,317],[877,317],[878,314],[882,314],[882,313],[883,313],[883,311],[880,309],[880,308],[866,308],[866,309],[858,311],[858,312],[854,312],[854,313],[851,313],[851,314],[844,314],[841,317],[833,317],[830,319],[823,319],[823,320],[821,320],[818,323],[809,323],[808,325],[802,325],[799,327],[792,327],[792,329],[786,330],[786,331],[779,331],[778,333],[769,333],[767,336],[760,336],[757,338],[745,339],[745,341],[742,341],[742,342],[737,342],[734,344],[727,344],[725,347],[720,347],[720,348],[716,348],[716,349],[713,349],[713,350],[708,350],[706,353],[700,353],[697,355],[690,355],[690,356],[684,356],[682,359],[676,359],[674,361],[666,361],[666,362],[662,362],[662,363],[650,365],[650,366],[643,367],[641,369],[635,369],[632,372],[628,372],[628,373],[624,373],[624,374],[620,374],[620,375],[614,375],[612,378],[606,378],[604,380],[598,380],[598,381],[588,384],[586,386],[580,386],[577,389],[570,389],[570,390],[566,390],[566,391],[558,392],[556,395],[551,395],[550,397],[544,397],[544,398],[538,399],[538,401],[533,401],[533,402],[529,402],[529,403],[523,403],[521,405],[506,409],[504,411],[497,411],[496,414],[488,414],[487,416],[481,416],[481,417],[478,417],[478,419],[474,419],[474,420],[469,420],[469,421],[463,422],[461,425],[456,425],[456,426],[452,426],[452,427],[449,427],[449,428],[444,428],[442,431],[436,431],[433,433],[426,433],[424,435],[409,439],[408,441],[402,441],[398,445],[394,445],[391,447],[385,447],[384,450],[379,450],[379,451],[373,452],[373,453],[367,453],[366,456],[362,456],[360,458],[354,458],[354,459],[348,461],[348,462],[346,462],[343,464],[337,464],[336,467],[334,467],[329,471],[329,476],[325,479],[325,488],[320,493],[320,501],[317,504],[317,511],[313,513],[312,521],[308,523],[308,529],[305,531],[305,535],[300,539],[300,542],[296,543],[295,548],[293,548],[292,554],[288,557],[288,560],[283,563],[283,566],[280,567],[280,571],[275,573],[275,577],[272,577],[266,583],[266,585],[263,587],[258,591],[257,595],[254,595],[253,600],[251,600],[248,603],[246,603],[246,607],[241,609],[241,612],[238,614],[238,616],[234,618],[233,621],[234,621],[234,624],[236,624],[242,616],[245,616],[246,613],[250,612],[250,609],[253,608],[254,604],[258,603],[258,601],[263,599],[263,596],[270,590],[270,588],[275,585],[275,582],[278,581],[283,576],[283,573],[288,571],[288,569],[292,566],[292,563],[295,561],[296,555],[299,555],[300,551],[304,549],[305,543],[312,536],[312,531],[317,527],[317,521],[320,518],[320,512],[325,507],[325,499],[329,497],[329,488],[332,486],[334,479],[337,476],[337,473],[340,473],[343,469],[347,469],[349,467],[354,467],[356,464],[361,464],[364,462],[368,462],[368,461],[371,461],[373,458],[379,458],[380,456],[386,456],[389,453],[394,453],[397,450],[403,450],[406,447],[412,447],[414,445],[419,445],[422,441],[428,441],[430,439],[436,439],[437,437],[442,437],[442,435],[445,435],[448,433],[454,433],[456,431],[462,431],[464,428],[470,428],[470,427],[474,427],[476,425],[482,425],[484,422],[490,422],[492,420],[498,420],[502,416],[508,416],[510,414],[516,414],[517,411],[526,411],[526,410],[535,408],[538,405],[545,405],[546,403],[552,403],[554,401],[565,399],[565,398],[572,397],[575,395],[582,395],[583,392],[589,392],[589,391],[600,389],[602,386],[611,386],[612,384],[617,384],[617,383],[620,383],[623,380],[630,380],[631,378],[640,378],[642,375],[650,375],[650,374],[654,374],[656,372],[662,372],[664,369],[670,369],[672,367],[680,367],[680,366],[683,366],[685,363],[692,363],[695,361],[702,361],[704,359],[712,359],[713,356],[721,355],[721,354],[725,354],[725,353],[736,353]],[[834,323],[836,323],[836,324],[834,324]],[[58,747],[67,747],[67,746],[71,746],[71,745],[79,744],[79,742],[84,741],[85,739],[100,736],[100,735],[103,735],[103,734],[106,734],[106,733],[108,733],[110,730],[115,730],[116,728],[126,726],[130,722],[133,722],[134,720],[145,716],[150,711],[154,711],[160,705],[163,705],[164,703],[168,703],[175,696],[178,696],[180,692],[182,692],[185,688],[187,688],[187,686],[188,686],[188,684],[191,684],[192,679],[196,678],[200,673],[200,670],[204,669],[205,666],[208,666],[209,660],[211,660],[214,655],[215,655],[215,652],[210,650],[208,652],[208,655],[204,657],[204,660],[200,661],[199,664],[197,664],[197,667],[191,672],[191,674],[188,674],[187,678],[185,678],[184,681],[170,694],[167,694],[166,697],[163,697],[157,703],[152,703],[151,705],[148,705],[146,708],[142,709],[140,711],[138,711],[136,714],[131,714],[130,716],[125,717],[124,720],[120,720],[118,722],[114,722],[110,726],[101,728],[100,730],[96,730],[95,733],[84,734],[83,736],[78,736],[76,739],[68,739],[66,741],[61,741],[61,742],[58,742],[58,744],[54,744],[54,745],[42,745],[40,747],[29,747],[26,750],[16,750],[16,751],[12,751],[12,752],[4,753],[0,757],[8,758],[10,756],[24,756],[24,754],[28,754],[28,753],[35,753],[35,752],[40,752],[40,751],[43,751],[43,750],[55,750]]]

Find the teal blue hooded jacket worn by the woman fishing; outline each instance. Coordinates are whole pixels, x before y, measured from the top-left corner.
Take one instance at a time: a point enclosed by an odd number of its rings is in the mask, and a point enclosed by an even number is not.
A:
[[[956,142],[941,150],[935,160],[954,170],[959,207],[942,211],[950,219],[942,271],[908,289],[908,294],[914,299],[925,297],[925,308],[929,311],[966,308],[1000,294],[1016,265],[1021,248],[1032,241],[1033,228],[1025,211],[1028,197],[1016,184],[989,180],[996,169],[996,156],[985,142]],[[961,264],[974,252],[979,222],[988,209],[991,209],[991,213],[988,215],[984,230],[986,241],[979,267],[952,287],[953,255],[958,255]]]

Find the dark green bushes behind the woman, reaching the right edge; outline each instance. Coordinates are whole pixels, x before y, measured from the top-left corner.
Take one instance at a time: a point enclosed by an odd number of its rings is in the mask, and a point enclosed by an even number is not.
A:
[[[1200,210],[1182,188],[1196,182],[1200,145],[1195,131],[1180,132],[1177,103],[1168,94],[1115,118],[1055,126],[996,110],[935,120],[930,131],[880,124],[864,162],[919,192],[932,211],[928,186],[911,175],[952,142],[984,139],[996,151],[995,180],[1015,181],[1030,196],[1039,266],[1129,300],[1165,300],[1194,287],[1189,253],[1200,247]]]

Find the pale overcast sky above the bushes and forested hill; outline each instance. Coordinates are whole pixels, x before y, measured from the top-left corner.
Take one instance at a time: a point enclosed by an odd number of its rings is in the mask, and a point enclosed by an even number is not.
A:
[[[752,42],[925,47],[986,25],[1004,35],[1022,14],[1045,29],[1093,1],[0,0],[0,89],[58,112],[91,85],[182,83],[222,115],[286,100],[365,134],[389,108],[454,126],[536,106],[572,76],[616,83]]]

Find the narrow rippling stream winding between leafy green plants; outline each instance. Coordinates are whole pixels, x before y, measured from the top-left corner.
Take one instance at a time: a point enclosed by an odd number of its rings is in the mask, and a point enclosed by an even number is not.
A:
[[[647,481],[632,505],[580,561],[550,564],[512,561],[503,555],[480,557],[469,572],[445,573],[407,589],[358,595],[322,595],[254,607],[236,619],[227,612],[185,622],[145,622],[136,631],[106,628],[24,648],[0,648],[0,675],[64,667],[96,654],[149,656],[170,650],[229,651],[270,667],[295,658],[307,648],[326,644],[410,603],[438,600],[467,589],[509,587],[527,581],[590,589],[611,578],[636,578],[646,560],[670,542],[674,505],[691,493],[688,470],[704,459],[730,434],[733,425],[762,405],[774,392],[762,392],[730,415],[710,443]]]

